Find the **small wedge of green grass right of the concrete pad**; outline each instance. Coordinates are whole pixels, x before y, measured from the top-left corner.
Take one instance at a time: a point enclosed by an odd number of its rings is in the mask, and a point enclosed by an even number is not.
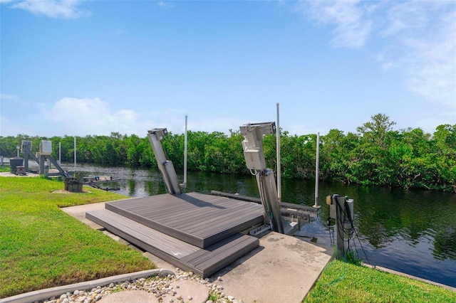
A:
[[[311,302],[456,302],[456,292],[408,277],[333,260],[303,301]]]

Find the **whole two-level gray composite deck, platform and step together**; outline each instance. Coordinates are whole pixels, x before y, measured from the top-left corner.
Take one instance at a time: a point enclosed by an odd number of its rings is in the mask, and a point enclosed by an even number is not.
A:
[[[208,277],[259,239],[243,232],[263,223],[256,203],[202,193],[161,194],[108,202],[86,218],[172,265]]]

